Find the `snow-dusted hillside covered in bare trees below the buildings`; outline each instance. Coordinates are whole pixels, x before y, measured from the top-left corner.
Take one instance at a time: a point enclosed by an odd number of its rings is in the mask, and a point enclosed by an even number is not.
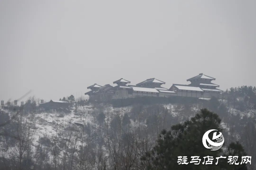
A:
[[[207,108],[222,119],[225,147],[239,141],[255,158],[256,109],[254,95],[241,89],[227,91],[229,99],[138,98],[110,102],[76,101],[68,109],[1,111],[0,120],[10,120],[1,128],[1,159],[14,166],[15,150],[21,146],[12,136],[26,137],[21,162],[32,169],[73,167],[74,169],[111,169],[140,167],[140,157],[150,151],[162,129],[183,123]],[[235,100],[234,100],[235,99]],[[1,123],[0,123],[1,125]],[[6,133],[5,133],[6,132]],[[44,156],[43,156],[44,155]],[[252,165],[255,165],[255,159]],[[24,162],[24,164],[25,164]],[[4,162],[0,163],[4,166]],[[22,163],[23,164],[23,163]],[[32,168],[31,168],[32,167]]]

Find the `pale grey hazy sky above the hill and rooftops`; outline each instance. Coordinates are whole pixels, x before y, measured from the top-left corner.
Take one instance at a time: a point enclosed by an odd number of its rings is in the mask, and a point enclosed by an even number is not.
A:
[[[155,77],[256,86],[255,0],[0,0],[0,99]]]

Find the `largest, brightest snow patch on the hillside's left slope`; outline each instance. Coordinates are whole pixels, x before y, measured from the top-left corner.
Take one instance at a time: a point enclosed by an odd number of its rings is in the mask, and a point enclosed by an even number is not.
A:
[[[104,113],[106,118],[111,120],[114,114],[118,113],[124,115],[124,113],[130,112],[132,109],[131,106],[113,108],[111,105],[87,105],[85,107],[73,108],[71,113],[38,113],[35,115],[36,123],[36,134],[34,135],[34,146],[38,144],[40,136],[43,134],[52,134],[56,126],[66,127],[71,124],[79,124],[82,122],[93,123],[94,114]]]

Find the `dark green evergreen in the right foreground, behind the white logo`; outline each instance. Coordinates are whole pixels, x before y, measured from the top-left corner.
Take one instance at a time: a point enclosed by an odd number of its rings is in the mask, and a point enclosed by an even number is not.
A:
[[[162,130],[156,146],[152,151],[142,156],[142,164],[145,164],[148,170],[221,170],[230,168],[246,170],[244,164],[231,167],[228,164],[228,157],[219,159],[218,165],[216,165],[216,157],[225,155],[222,148],[211,151],[203,146],[202,137],[204,133],[210,129],[221,132],[220,123],[221,119],[217,114],[207,109],[201,109],[201,112],[189,121],[172,126],[170,131]],[[212,134],[209,137],[211,138]],[[237,155],[240,156],[240,159],[241,156],[245,156],[244,149],[238,143],[236,145],[230,144],[228,148],[233,149],[233,152],[226,153],[228,156]],[[178,164],[178,156],[187,156],[187,162],[191,161],[191,156],[200,156],[201,162],[199,165]],[[212,165],[202,164],[205,156],[213,156]]]

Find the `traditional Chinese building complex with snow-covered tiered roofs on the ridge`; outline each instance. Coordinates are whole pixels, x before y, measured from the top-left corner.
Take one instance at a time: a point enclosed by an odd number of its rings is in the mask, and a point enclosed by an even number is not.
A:
[[[200,73],[187,80],[191,82],[189,85],[173,84],[170,89],[166,89],[162,87],[165,82],[155,78],[146,79],[136,85],[128,85],[131,82],[121,78],[113,82],[116,84],[114,87],[109,84],[104,86],[97,84],[89,86],[87,89],[91,89],[91,91],[85,93],[85,95],[89,95],[90,99],[94,100],[126,99],[142,96],[210,98],[212,96],[218,96],[223,92],[216,88],[219,85],[212,83],[212,80],[215,80],[215,78]]]

